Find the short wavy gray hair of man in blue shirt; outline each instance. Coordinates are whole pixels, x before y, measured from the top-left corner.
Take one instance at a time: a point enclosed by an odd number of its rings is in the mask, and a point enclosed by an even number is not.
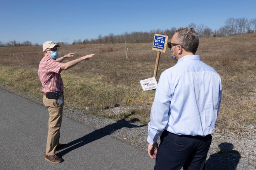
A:
[[[195,54],[199,46],[199,37],[194,28],[179,28],[177,31],[177,41],[188,52]]]

